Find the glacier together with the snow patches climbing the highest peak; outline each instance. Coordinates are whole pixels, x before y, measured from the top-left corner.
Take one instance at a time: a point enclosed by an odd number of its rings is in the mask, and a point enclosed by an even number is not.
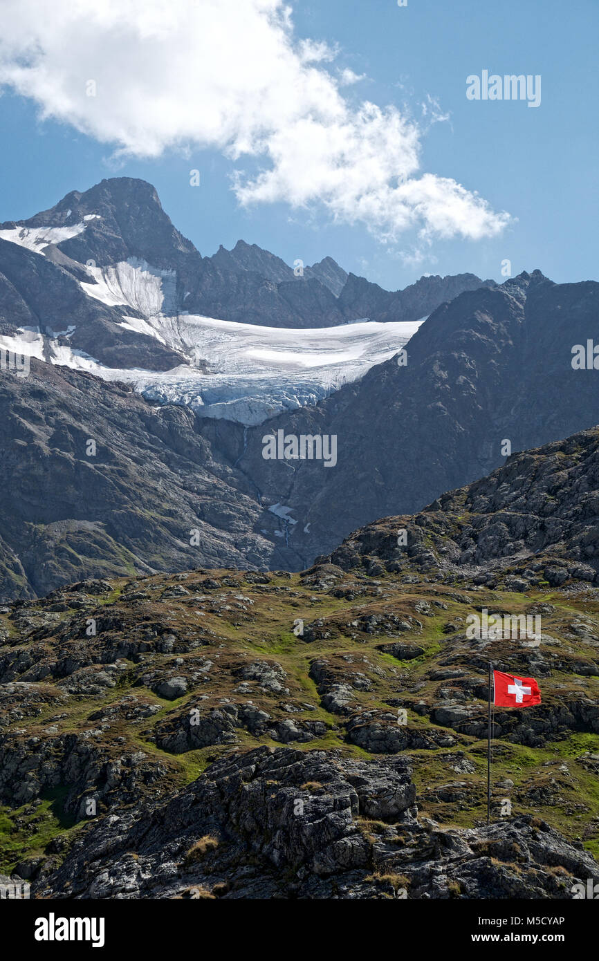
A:
[[[43,256],[48,245],[82,233],[97,216],[87,214],[85,223],[71,227],[15,227],[0,236]],[[129,382],[149,400],[185,405],[201,416],[246,427],[283,410],[312,406],[344,383],[359,380],[374,364],[397,354],[426,319],[388,324],[361,320],[307,330],[258,327],[177,312],[176,272],[144,260],[130,258],[103,267],[88,262],[86,269],[89,283],[81,286],[87,296],[121,308],[125,330],[155,337],[187,363],[165,373],[106,367],[56,342],[58,333],[68,339],[73,325],[55,333],[23,329],[0,336],[0,347],[108,381]],[[142,317],[132,316],[132,310]]]

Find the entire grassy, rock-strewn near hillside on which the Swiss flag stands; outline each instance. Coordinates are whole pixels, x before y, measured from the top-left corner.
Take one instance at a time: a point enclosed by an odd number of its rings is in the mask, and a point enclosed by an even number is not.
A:
[[[87,579],[7,604],[0,871],[80,898],[559,899],[596,881],[598,443],[514,456],[301,574]],[[484,610],[538,618],[536,636],[472,635]],[[495,710],[487,829],[489,659],[542,703]]]

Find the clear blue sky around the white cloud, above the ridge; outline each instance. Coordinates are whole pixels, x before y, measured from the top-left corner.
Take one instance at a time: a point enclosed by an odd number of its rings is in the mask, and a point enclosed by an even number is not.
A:
[[[235,0],[226,2],[232,5]],[[260,6],[261,0],[255,2]],[[32,3],[35,7],[39,0],[21,0],[21,8]],[[59,0],[59,7],[61,3]],[[110,6],[112,0],[105,3]],[[198,7],[202,12],[202,0],[195,9]],[[129,149],[117,158],[115,152],[122,142],[111,134],[110,100],[105,99],[102,106],[104,119],[93,121],[98,129],[86,132],[87,122],[82,121],[77,105],[61,117],[58,98],[51,99],[54,93],[11,77],[0,97],[0,220],[30,216],[52,206],[69,190],[87,189],[105,177],[142,177],[156,185],[163,208],[204,255],[212,254],[220,243],[231,247],[242,237],[289,263],[298,258],[312,263],[330,255],[345,269],[389,289],[412,283],[424,273],[471,271],[501,280],[504,259],[511,260],[512,274],[538,267],[558,282],[598,279],[596,0],[574,0],[568,5],[558,0],[526,0],[525,4],[522,0],[502,4],[408,0],[407,8],[398,8],[396,0],[326,0],[292,3],[291,9],[293,44],[303,38],[324,40],[330,49],[335,48],[336,55],[323,60],[323,70],[332,76],[342,69],[364,75],[343,87],[345,103],[352,111],[358,111],[367,99],[381,109],[394,107],[417,125],[418,171],[414,176],[433,174],[457,182],[469,193],[476,191],[494,214],[507,211],[511,215],[503,230],[492,235],[494,228],[489,226],[487,235],[447,238],[435,227],[423,242],[415,224],[389,239],[384,236],[386,231],[373,227],[372,216],[364,220],[355,215],[352,205],[356,200],[358,210],[359,202],[353,195],[348,198],[337,191],[334,204],[321,203],[316,196],[305,206],[294,206],[287,193],[293,192],[295,174],[283,185],[270,185],[265,201],[260,199],[260,189],[253,189],[258,202],[243,207],[232,189],[232,174],[237,168],[256,176],[269,166],[267,157],[233,160],[230,152],[227,156],[222,146],[216,149],[204,135],[198,135],[197,142],[187,138],[182,148],[181,143],[169,142],[161,127],[161,148],[156,156],[139,156]],[[71,40],[83,29],[78,23],[64,23],[62,29],[73,32]],[[117,26],[115,21],[113,31],[107,34],[109,43]],[[15,47],[24,29],[15,31]],[[41,37],[42,45],[47,42],[51,66],[52,44],[56,43],[58,50],[61,37],[51,35],[56,25],[50,21],[38,29],[35,38],[39,42]],[[82,49],[88,42],[83,34]],[[66,45],[67,49],[72,46],[72,42]],[[108,68],[110,45],[103,49],[107,57],[96,73]],[[13,53],[3,52],[0,42],[0,64],[3,56],[10,59]],[[93,53],[89,48],[89,62]],[[81,63],[69,64],[66,56],[66,69],[79,76]],[[242,66],[243,53],[237,52],[236,58]],[[149,48],[147,59],[152,61]],[[238,81],[242,84],[241,66]],[[180,68],[181,64],[173,64],[174,71]],[[500,75],[539,74],[540,106],[531,109],[522,101],[467,100],[466,77],[480,75],[484,69]],[[135,64],[132,71],[129,78],[122,76],[123,88],[135,83]],[[7,74],[0,69],[0,80],[3,76],[6,79]],[[167,80],[172,80],[171,90],[176,93],[177,78]],[[193,99],[184,107],[194,113],[198,124],[204,123],[202,76],[182,74],[181,83],[197,85]],[[163,78],[161,84],[165,84]],[[306,96],[304,88],[300,95]],[[426,103],[430,109],[432,102],[446,119],[431,124],[430,112],[422,115],[421,105]],[[40,119],[41,105],[54,112],[55,118]],[[89,102],[84,104],[86,110],[89,106]],[[166,109],[172,113],[172,103]],[[247,115],[248,108],[244,110]],[[278,110],[285,112],[285,107]],[[127,114],[124,116],[126,123]],[[376,136],[381,136],[380,130]],[[189,170],[194,168],[201,175],[201,186],[196,188],[189,185]],[[355,164],[348,170],[348,182],[356,169]]]

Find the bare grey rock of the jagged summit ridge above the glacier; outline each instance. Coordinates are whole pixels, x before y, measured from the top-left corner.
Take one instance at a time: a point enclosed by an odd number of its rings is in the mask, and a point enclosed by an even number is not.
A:
[[[85,221],[85,218],[92,219]],[[71,300],[74,298],[77,303],[70,303],[64,296],[61,300],[58,287],[66,284],[63,274],[70,275],[74,281],[88,283],[90,278],[83,266],[87,263],[102,267],[129,259],[145,261],[152,268],[173,272],[174,302],[168,312],[199,313],[270,327],[329,327],[362,317],[414,320],[462,290],[482,283],[471,274],[421,278],[406,291],[387,293],[354,275],[348,279],[332,258],[306,265],[303,273],[296,276],[282,259],[243,240],[231,251],[221,246],[212,257],[203,258],[173,227],[162,210],[155,188],[131,177],[104,180],[83,193],[73,190],[55,207],[28,220],[0,224],[0,230],[18,227],[27,232],[40,227],[73,227],[82,222],[86,222],[85,231],[46,246],[43,258],[46,268],[37,268],[31,257],[40,258],[21,250],[21,262],[15,272],[11,264],[17,256],[12,250],[14,244],[7,249],[9,241],[0,241],[0,295],[5,288],[5,297],[0,296],[0,319],[3,307],[7,308],[12,322],[17,322],[19,314],[26,317],[28,311],[36,313],[35,304],[30,300],[29,275],[43,269],[49,279],[46,285],[57,293],[54,301],[50,297],[44,304],[44,311],[53,318],[51,329],[76,325],[78,333],[71,338],[72,345],[112,366],[167,370],[182,363],[183,358],[166,352],[155,338],[111,327],[111,320],[113,325],[122,319],[119,311],[104,308],[88,297],[78,283],[72,284],[71,293]],[[345,296],[341,297],[346,287]],[[93,323],[87,316],[90,312]],[[128,313],[131,314],[130,309]],[[62,327],[56,325],[57,318],[61,319]],[[118,357],[102,353],[102,348],[107,346],[104,343],[107,326],[117,346],[135,346],[141,351],[140,356],[124,350]],[[151,356],[151,363],[142,362],[142,348]],[[170,363],[166,363],[167,353],[171,355]]]

